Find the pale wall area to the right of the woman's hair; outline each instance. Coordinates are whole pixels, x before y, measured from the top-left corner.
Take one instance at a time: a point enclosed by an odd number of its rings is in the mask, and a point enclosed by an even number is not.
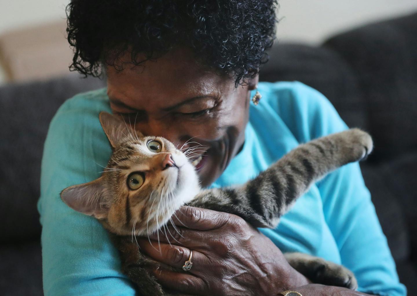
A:
[[[417,0],[280,0],[281,41],[322,42],[327,36],[417,11]]]

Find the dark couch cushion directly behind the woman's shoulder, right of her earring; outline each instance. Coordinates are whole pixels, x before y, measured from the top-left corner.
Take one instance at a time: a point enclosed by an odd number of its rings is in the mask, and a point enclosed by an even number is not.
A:
[[[323,93],[351,127],[367,129],[365,102],[350,66],[334,51],[300,44],[276,44],[261,66],[262,81],[298,80]]]

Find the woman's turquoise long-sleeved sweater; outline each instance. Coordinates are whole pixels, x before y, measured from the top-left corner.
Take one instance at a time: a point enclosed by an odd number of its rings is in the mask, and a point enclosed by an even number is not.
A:
[[[251,104],[246,141],[214,187],[244,183],[285,153],[347,126],[322,94],[301,83],[259,83],[262,99]],[[252,94],[253,95],[253,94]],[[98,113],[110,112],[106,89],[76,95],[53,118],[43,152],[41,215],[45,295],[134,295],[121,273],[107,232],[60,199],[70,185],[100,176],[111,155]],[[261,229],[281,251],[299,251],[341,263],[359,291],[405,295],[357,163],[316,183],[276,229]]]

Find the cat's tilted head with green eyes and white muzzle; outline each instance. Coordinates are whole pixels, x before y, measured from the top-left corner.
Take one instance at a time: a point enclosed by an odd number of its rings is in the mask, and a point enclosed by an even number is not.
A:
[[[100,113],[113,153],[100,178],[70,186],[62,200],[94,216],[109,231],[143,235],[158,230],[200,190],[194,164],[173,143],[143,136],[115,115]]]

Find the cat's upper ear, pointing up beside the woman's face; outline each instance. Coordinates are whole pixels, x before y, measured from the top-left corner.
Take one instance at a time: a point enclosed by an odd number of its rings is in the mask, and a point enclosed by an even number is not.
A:
[[[107,112],[100,112],[99,118],[101,127],[103,128],[104,133],[106,133],[113,148],[116,148],[122,138],[133,135],[133,133],[135,134],[135,137],[142,136],[140,132],[131,128],[130,124],[125,123],[116,115]]]

